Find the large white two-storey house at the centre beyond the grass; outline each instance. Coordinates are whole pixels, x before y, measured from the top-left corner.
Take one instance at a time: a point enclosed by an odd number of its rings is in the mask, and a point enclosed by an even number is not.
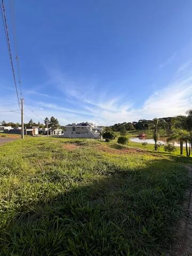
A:
[[[68,124],[65,126],[64,134],[61,137],[64,138],[92,138],[102,139],[100,133],[102,126],[95,126],[90,123]]]

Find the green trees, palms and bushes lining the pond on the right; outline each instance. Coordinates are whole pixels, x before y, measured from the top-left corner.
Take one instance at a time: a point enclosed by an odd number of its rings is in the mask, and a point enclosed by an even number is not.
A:
[[[137,129],[140,127],[140,129]],[[155,142],[154,149],[157,150],[159,144],[157,143],[159,139],[159,131],[164,130],[167,134],[167,145],[164,145],[165,151],[170,153],[175,150],[174,145],[170,142],[177,140],[180,144],[180,155],[183,155],[183,143],[186,147],[186,156],[190,156],[192,151],[192,109],[186,112],[186,116],[175,116],[166,118],[154,118],[153,120],[142,119],[138,123],[122,123],[115,124],[113,126],[107,127],[102,133],[103,139],[107,142],[114,140],[116,134],[114,132],[120,132],[121,137],[118,138],[117,142],[122,145],[128,141],[125,137],[126,132],[129,130],[146,130],[150,129],[153,132],[153,139]]]

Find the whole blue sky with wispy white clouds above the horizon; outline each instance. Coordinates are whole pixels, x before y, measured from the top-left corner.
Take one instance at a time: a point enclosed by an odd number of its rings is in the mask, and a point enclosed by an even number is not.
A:
[[[192,1],[14,2],[26,122],[53,115],[109,125],[191,108]],[[15,110],[2,20],[0,37],[0,108]]]

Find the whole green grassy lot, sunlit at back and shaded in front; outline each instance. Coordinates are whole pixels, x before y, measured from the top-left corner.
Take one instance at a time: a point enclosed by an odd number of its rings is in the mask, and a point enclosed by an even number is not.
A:
[[[176,156],[114,145],[41,137],[1,146],[0,255],[163,255],[187,171]]]

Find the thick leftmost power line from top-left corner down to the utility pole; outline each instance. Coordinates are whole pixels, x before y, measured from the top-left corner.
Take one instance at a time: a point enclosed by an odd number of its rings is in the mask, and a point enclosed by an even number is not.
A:
[[[0,6],[1,6],[1,4],[0,4]],[[12,68],[12,73],[13,73],[13,80],[14,80],[14,85],[15,85],[15,91],[17,93],[17,99],[18,99],[18,103],[19,103],[18,88],[17,88],[16,79],[15,79],[15,73],[14,73],[14,67],[13,67],[13,59],[12,59],[11,46],[10,46],[10,39],[9,39],[9,33],[8,33],[8,26],[7,26],[7,22],[6,22],[5,6],[4,6],[3,0],[2,0],[2,6],[1,6],[1,13],[2,13],[2,19],[3,19],[3,26],[4,26],[4,30],[5,30],[5,37],[6,37],[6,42],[7,42],[7,48],[8,48],[8,51],[9,51],[9,57],[10,57],[10,62],[11,62],[11,68]],[[19,105],[19,108],[20,108],[20,105]],[[20,110],[21,110],[21,108],[20,108]]]

